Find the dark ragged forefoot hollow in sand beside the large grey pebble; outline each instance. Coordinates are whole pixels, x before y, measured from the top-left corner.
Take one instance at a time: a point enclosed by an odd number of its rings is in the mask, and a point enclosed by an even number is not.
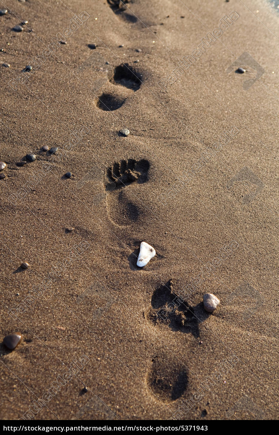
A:
[[[148,319],[154,325],[164,324],[172,331],[190,333],[196,338],[200,336],[199,323],[208,317],[205,315],[201,318],[200,304],[191,307],[174,293],[172,280],[154,290],[151,296],[151,306]]]

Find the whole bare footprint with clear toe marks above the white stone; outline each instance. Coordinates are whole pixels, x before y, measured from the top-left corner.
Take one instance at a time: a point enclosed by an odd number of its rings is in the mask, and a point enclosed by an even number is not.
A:
[[[149,167],[148,160],[129,159],[115,162],[108,168],[108,215],[115,224],[129,225],[138,220],[139,208],[128,199],[124,187],[133,183],[145,183],[148,180]]]

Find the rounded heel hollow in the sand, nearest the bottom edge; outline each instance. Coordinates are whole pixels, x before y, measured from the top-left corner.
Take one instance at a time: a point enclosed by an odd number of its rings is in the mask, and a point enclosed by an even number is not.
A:
[[[177,360],[165,361],[165,357],[152,359],[152,366],[147,376],[151,391],[163,402],[180,398],[187,388],[187,369]]]

